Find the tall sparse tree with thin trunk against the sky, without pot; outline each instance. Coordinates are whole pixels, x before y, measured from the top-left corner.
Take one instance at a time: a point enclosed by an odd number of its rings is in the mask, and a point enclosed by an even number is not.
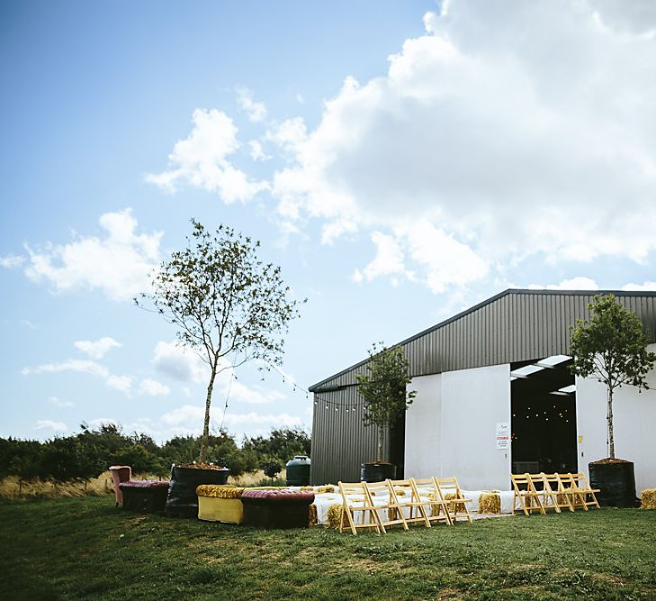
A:
[[[259,241],[220,225],[208,232],[192,220],[187,247],[152,278],[152,292],[135,299],[178,327],[178,340],[209,369],[198,460],[207,457],[210,406],[217,373],[248,360],[282,363],[284,336],[299,315],[281,269],[258,259]]]

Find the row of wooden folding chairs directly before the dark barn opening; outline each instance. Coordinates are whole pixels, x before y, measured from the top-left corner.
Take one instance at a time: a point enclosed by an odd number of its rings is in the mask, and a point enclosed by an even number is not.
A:
[[[598,507],[597,488],[591,488],[585,474],[510,474],[513,483],[513,515],[523,511],[546,514],[553,509],[561,514],[563,509],[574,511]]]

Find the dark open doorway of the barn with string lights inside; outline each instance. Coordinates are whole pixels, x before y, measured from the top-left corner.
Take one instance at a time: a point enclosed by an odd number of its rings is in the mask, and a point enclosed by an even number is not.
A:
[[[576,389],[570,365],[567,355],[510,365],[513,473],[578,470]]]

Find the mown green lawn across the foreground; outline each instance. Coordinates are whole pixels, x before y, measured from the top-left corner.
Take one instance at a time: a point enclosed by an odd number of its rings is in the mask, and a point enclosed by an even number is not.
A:
[[[387,535],[263,531],[0,502],[9,599],[656,599],[656,511],[505,517]]]

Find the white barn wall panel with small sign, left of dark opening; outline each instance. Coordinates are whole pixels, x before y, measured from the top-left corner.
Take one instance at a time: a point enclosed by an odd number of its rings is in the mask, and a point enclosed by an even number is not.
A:
[[[406,476],[456,476],[469,490],[508,490],[510,449],[496,447],[510,423],[510,366],[413,378],[406,416]]]

